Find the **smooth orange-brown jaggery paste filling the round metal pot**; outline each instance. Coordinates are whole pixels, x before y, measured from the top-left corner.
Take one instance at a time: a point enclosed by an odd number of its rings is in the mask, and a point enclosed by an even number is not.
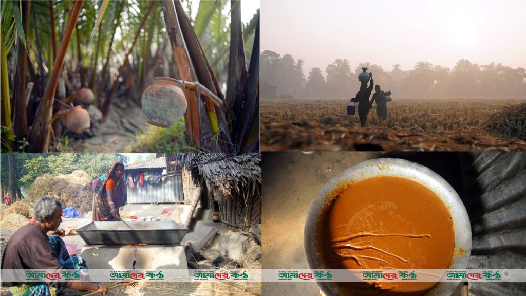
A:
[[[431,190],[401,177],[351,184],[329,206],[323,255],[334,269],[446,269],[451,215]],[[422,295],[434,282],[341,283],[353,294]]]

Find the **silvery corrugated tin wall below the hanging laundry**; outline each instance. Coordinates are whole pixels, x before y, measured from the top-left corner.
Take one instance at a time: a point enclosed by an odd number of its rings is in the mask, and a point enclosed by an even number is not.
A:
[[[175,174],[166,178],[165,182],[157,185],[146,185],[128,188],[128,203],[182,203],[183,178]]]

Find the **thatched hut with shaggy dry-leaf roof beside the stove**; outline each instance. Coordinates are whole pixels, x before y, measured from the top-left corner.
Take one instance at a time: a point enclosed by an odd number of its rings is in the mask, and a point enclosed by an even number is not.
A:
[[[189,153],[181,165],[201,206],[219,211],[221,223],[240,230],[261,223],[261,154]]]

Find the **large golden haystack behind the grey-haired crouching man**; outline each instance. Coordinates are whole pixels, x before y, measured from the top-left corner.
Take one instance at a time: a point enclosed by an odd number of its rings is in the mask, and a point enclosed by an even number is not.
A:
[[[89,176],[84,171],[74,171],[67,175],[52,176],[44,174],[37,177],[28,192],[29,201],[50,197],[62,203],[62,206],[73,205],[76,209],[87,212],[92,209],[92,193]]]

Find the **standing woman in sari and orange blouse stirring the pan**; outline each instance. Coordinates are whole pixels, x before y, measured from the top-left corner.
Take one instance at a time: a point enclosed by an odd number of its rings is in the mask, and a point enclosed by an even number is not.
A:
[[[116,161],[95,195],[93,221],[118,221],[119,206],[124,202],[124,163]]]

